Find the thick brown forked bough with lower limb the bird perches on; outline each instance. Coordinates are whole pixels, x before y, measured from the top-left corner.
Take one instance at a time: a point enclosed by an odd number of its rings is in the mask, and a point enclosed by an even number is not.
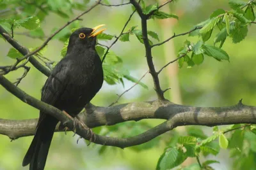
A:
[[[29,96],[18,87],[15,87],[4,76],[0,76],[0,83],[6,90],[11,92],[20,100],[29,105],[44,110],[52,116],[58,118],[68,129],[74,129],[71,118],[67,117],[60,110],[51,105],[38,101]],[[182,125],[228,125],[228,124],[256,124],[256,107],[246,106],[239,101],[238,104],[228,107],[193,107],[170,103],[170,101],[151,101],[141,103],[127,103],[108,108],[93,106],[88,104],[85,111],[79,114],[81,120],[88,127],[99,127],[101,125],[114,125],[120,122],[131,120],[141,120],[145,118],[164,119],[166,122],[131,138],[111,138],[95,135],[94,143],[100,145],[116,146],[125,148],[140,145],[164,132],[170,131]],[[36,119],[31,120],[4,120],[0,119],[0,134],[4,134],[11,139],[34,134]],[[10,128],[11,127],[11,128]],[[56,129],[56,131],[58,131]],[[90,139],[87,130],[83,126],[76,125],[76,132],[84,139]]]

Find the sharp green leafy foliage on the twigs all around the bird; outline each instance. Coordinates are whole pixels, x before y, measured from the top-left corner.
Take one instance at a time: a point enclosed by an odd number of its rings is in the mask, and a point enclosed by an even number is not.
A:
[[[43,39],[45,37],[44,30],[40,27],[40,24],[45,22],[45,17],[49,13],[56,13],[62,18],[69,18],[75,10],[84,11],[89,1],[68,1],[58,0],[54,1],[0,1],[0,9],[10,7],[10,10],[3,18],[0,19],[0,25],[6,29],[10,34],[15,35],[17,29],[23,28],[29,31],[29,36],[33,36],[35,39]],[[108,1],[104,1],[105,4],[110,4]],[[142,1],[141,6],[143,13],[146,15],[152,13],[148,19],[165,19],[176,18],[177,15],[172,13],[164,13],[159,10],[159,4],[146,4],[148,2]],[[248,34],[248,28],[255,21],[255,1],[244,3],[244,1],[229,0],[228,4],[231,10],[217,9],[207,18],[207,20],[196,24],[189,36],[197,36],[198,41],[186,40],[182,48],[180,48],[178,57],[179,66],[194,67],[200,65],[205,61],[205,57],[212,57],[218,61],[230,60],[223,45],[227,38],[230,38],[233,43],[240,43],[246,38]],[[21,15],[16,13],[16,8],[24,8]],[[81,27],[80,22],[74,22],[68,27],[60,31],[53,39],[56,39],[63,43],[63,49],[60,55],[62,57],[67,53],[68,38],[72,31]],[[56,31],[58,28],[52,29],[51,32]],[[158,34],[148,30],[150,45],[161,41]],[[132,36],[136,37],[140,43],[144,43],[143,35],[138,26],[133,25],[129,29],[125,29],[124,33],[118,39],[121,42],[132,41]],[[106,59],[103,62],[104,68],[104,80],[109,85],[115,85],[116,83],[122,83],[124,85],[124,79],[136,83],[137,78],[134,78],[129,73],[129,70],[125,68],[123,57],[116,55],[114,50],[108,50],[106,46],[102,46],[102,41],[111,41],[116,36],[113,34],[101,33],[98,36],[100,42],[96,46],[97,52],[102,59],[106,55]],[[133,43],[133,42],[132,42]],[[47,50],[46,48],[44,48]],[[108,52],[107,52],[108,51]],[[42,55],[42,51],[38,53]],[[21,58],[22,55],[10,48],[8,57],[12,59]],[[182,56],[182,57],[181,57]],[[61,59],[61,57],[60,57]],[[145,83],[139,83],[141,87],[148,89]],[[140,134],[143,131],[147,131],[151,126],[147,123],[141,122],[127,122],[125,124],[119,124],[111,127],[99,127],[95,129],[95,132],[106,136],[119,136],[127,138],[134,136],[134,134]],[[163,154],[159,157],[156,165],[156,169],[172,169],[173,167],[179,167],[179,169],[213,169],[212,164],[219,164],[216,160],[208,159],[207,155],[218,155],[220,150],[228,150],[230,157],[234,160],[234,169],[254,169],[256,167],[256,127],[255,125],[230,125],[223,129],[214,127],[211,136],[205,135],[205,132],[198,127],[186,128],[186,134],[175,134],[172,139],[166,140]],[[160,139],[156,138],[148,143],[139,146],[133,146],[131,150],[141,152],[148,150],[149,148],[156,147],[160,143]],[[99,153],[106,153],[108,150],[106,146],[99,146]],[[115,148],[111,148],[115,150]],[[198,159],[205,157],[205,161],[198,164],[191,164],[187,167],[181,167],[180,164],[189,157]]]

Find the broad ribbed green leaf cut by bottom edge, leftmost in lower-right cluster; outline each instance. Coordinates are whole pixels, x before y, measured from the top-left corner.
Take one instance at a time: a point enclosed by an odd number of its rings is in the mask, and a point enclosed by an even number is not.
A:
[[[179,150],[177,148],[166,148],[163,155],[159,158],[157,162],[157,170],[166,170],[166,169],[172,169],[173,167],[179,166],[186,160],[187,157],[182,152],[182,150]]]

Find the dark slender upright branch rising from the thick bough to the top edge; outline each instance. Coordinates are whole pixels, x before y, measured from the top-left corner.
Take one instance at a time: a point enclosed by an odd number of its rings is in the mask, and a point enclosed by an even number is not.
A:
[[[142,38],[145,46],[145,53],[147,57],[147,64],[149,68],[149,73],[152,75],[153,81],[154,81],[154,89],[156,90],[157,97],[159,100],[164,100],[164,94],[163,90],[161,90],[158,74],[156,73],[156,69],[154,67],[154,62],[152,60],[152,51],[151,46],[148,41],[148,33],[147,33],[147,15],[145,15],[142,11],[142,8],[139,3],[137,3],[135,0],[130,0],[132,5],[135,7],[135,9],[138,11],[138,14],[141,18],[141,31],[142,31]]]

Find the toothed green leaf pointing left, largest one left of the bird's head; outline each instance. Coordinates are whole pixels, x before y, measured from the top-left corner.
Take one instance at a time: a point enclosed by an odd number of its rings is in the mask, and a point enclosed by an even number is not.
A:
[[[40,27],[40,20],[38,17],[31,16],[22,20],[16,20],[15,24],[20,25],[26,29],[33,30]]]

